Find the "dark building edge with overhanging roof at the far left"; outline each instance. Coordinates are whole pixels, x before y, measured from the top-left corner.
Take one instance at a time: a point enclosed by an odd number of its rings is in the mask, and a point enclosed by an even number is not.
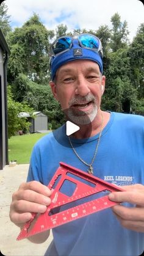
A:
[[[7,60],[9,46],[0,29],[0,170],[9,164],[7,125]]]

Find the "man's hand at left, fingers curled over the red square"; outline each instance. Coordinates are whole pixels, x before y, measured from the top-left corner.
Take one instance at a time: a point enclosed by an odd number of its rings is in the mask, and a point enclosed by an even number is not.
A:
[[[45,213],[46,206],[51,203],[51,194],[52,191],[38,181],[22,183],[12,196],[10,220],[23,227],[31,219],[32,213]]]

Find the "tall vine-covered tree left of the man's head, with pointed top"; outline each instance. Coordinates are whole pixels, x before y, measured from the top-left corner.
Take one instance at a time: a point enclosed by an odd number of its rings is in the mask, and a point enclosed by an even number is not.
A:
[[[34,15],[8,38],[12,57],[9,59],[8,78],[14,81],[19,72],[23,72],[32,81],[46,84],[49,81],[49,40],[54,32],[48,31]],[[18,49],[18,54],[16,49]],[[21,68],[17,63],[21,59]]]

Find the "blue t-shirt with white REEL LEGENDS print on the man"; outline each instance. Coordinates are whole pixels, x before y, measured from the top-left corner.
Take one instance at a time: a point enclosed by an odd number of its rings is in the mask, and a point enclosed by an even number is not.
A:
[[[65,125],[54,133],[55,136],[49,133],[35,144],[27,181],[37,180],[48,185],[60,161],[87,172],[88,167],[68,147]],[[98,136],[71,138],[76,152],[86,163],[92,161]],[[143,156],[144,118],[111,112],[93,163],[93,175],[119,186],[144,185]],[[134,207],[129,203],[124,205]],[[52,234],[54,240],[45,255],[132,256],[142,254],[144,249],[144,233],[122,227],[111,208],[56,227]]]

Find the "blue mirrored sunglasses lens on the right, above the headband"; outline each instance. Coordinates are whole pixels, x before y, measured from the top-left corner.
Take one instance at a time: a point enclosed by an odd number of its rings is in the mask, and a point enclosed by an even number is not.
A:
[[[80,35],[79,40],[82,46],[92,49],[99,48],[99,40],[98,38],[94,37],[93,35]]]

